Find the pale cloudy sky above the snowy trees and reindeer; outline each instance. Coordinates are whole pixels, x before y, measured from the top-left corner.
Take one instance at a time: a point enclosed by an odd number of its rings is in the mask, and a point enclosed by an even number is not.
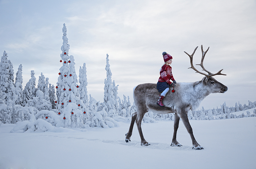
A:
[[[224,102],[248,105],[256,101],[255,0],[0,0],[0,52],[14,67],[23,66],[23,88],[34,70],[56,86],[63,23],[67,26],[69,55],[76,74],[86,63],[87,91],[103,102],[106,54],[118,96],[129,96],[142,83],[157,83],[162,52],[173,56],[177,82],[200,81],[204,76],[190,67],[186,51],[228,87],[226,93],[207,96],[201,109],[220,108]],[[200,66],[196,66],[200,70]]]

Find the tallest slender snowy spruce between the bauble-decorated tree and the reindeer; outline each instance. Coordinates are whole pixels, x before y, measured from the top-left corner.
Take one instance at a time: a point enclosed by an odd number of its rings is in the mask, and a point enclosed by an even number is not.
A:
[[[106,112],[108,113],[109,117],[113,117],[116,114],[115,109],[115,97],[113,92],[113,85],[111,80],[111,70],[110,70],[110,64],[109,64],[109,55],[106,54],[106,79],[105,79],[105,86],[104,86],[104,104],[106,105]],[[111,112],[109,112],[112,110]]]

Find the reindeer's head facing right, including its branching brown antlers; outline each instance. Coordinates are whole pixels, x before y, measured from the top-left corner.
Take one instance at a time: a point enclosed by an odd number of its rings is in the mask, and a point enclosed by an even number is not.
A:
[[[205,73],[202,73],[202,72],[199,72],[193,65],[193,56],[197,50],[198,46],[196,47],[196,49],[194,50],[194,52],[192,53],[192,55],[189,55],[187,52],[185,52],[189,58],[190,58],[190,65],[191,65],[191,69],[195,70],[196,73],[200,73],[202,75],[204,75],[205,77],[202,79],[202,82],[203,84],[205,85],[205,87],[207,88],[207,90],[211,93],[225,93],[227,90],[228,90],[228,87],[226,87],[224,84],[218,82],[216,79],[214,79],[212,76],[215,76],[215,75],[225,75],[225,74],[222,74],[221,71],[223,70],[220,70],[218,71],[217,73],[213,74],[211,72],[209,72],[208,70],[206,70],[203,66],[203,60],[204,60],[204,57],[205,57],[205,54],[207,53],[207,51],[209,50],[210,47],[208,47],[208,49],[204,52],[203,51],[203,45],[201,45],[201,50],[202,50],[202,59],[201,59],[201,63],[200,64],[196,64],[196,65],[200,65],[201,68],[203,69],[203,71],[207,72],[208,74],[205,74]],[[189,69],[189,68],[188,68]]]

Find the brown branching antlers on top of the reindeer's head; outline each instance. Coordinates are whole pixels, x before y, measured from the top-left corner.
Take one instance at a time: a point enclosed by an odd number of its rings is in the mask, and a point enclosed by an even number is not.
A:
[[[191,69],[195,70],[196,73],[200,73],[200,74],[202,74],[202,75],[204,75],[204,76],[206,76],[206,77],[208,77],[208,78],[211,77],[211,76],[215,76],[215,75],[225,75],[225,74],[222,74],[222,73],[221,73],[221,71],[222,71],[223,69],[220,70],[220,71],[218,71],[217,73],[213,74],[213,73],[209,72],[208,70],[206,70],[206,69],[204,68],[204,66],[203,66],[203,60],[204,60],[205,54],[208,52],[208,50],[209,50],[210,47],[208,47],[208,49],[204,52],[204,51],[203,51],[203,45],[201,45],[201,50],[202,50],[202,59],[201,59],[201,63],[200,63],[200,64],[196,64],[196,65],[200,65],[201,68],[203,69],[203,71],[207,72],[208,75],[205,74],[205,73],[199,72],[199,71],[194,67],[194,65],[193,65],[193,56],[194,56],[194,54],[195,54],[197,48],[198,48],[198,46],[196,47],[196,49],[194,50],[194,52],[193,52],[191,55],[189,55],[187,52],[184,51],[184,52],[189,56],[189,58],[190,58],[190,65],[191,65],[190,68],[191,68]],[[189,69],[189,68],[188,68],[188,69]]]

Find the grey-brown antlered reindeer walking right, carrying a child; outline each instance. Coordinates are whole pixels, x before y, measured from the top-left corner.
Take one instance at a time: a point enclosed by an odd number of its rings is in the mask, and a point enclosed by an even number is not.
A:
[[[225,75],[221,73],[223,69],[213,74],[207,71],[203,66],[204,56],[210,47],[208,47],[208,49],[204,52],[203,46],[201,45],[202,59],[201,59],[201,63],[197,64],[197,65],[200,65],[203,71],[207,72],[208,74],[199,72],[194,67],[193,55],[195,54],[197,48],[198,46],[196,47],[196,49],[191,55],[189,55],[185,51],[184,52],[190,58],[190,65],[191,65],[190,68],[195,70],[196,73],[200,73],[205,77],[201,81],[196,81],[191,83],[176,83],[175,92],[174,93],[168,92],[165,99],[163,99],[163,104],[165,105],[165,107],[160,107],[159,105],[156,104],[159,98],[159,92],[156,89],[156,84],[154,83],[139,84],[137,87],[133,89],[133,99],[137,107],[137,112],[132,114],[129,131],[128,133],[125,134],[126,142],[131,141],[132,129],[134,126],[134,122],[136,121],[140,138],[141,138],[141,145],[144,145],[144,146],[150,145],[145,140],[141,130],[141,121],[146,112],[152,111],[154,113],[159,113],[159,114],[175,113],[174,114],[174,132],[173,132],[171,146],[182,146],[176,140],[177,129],[179,127],[179,121],[181,118],[184,126],[186,127],[188,133],[190,134],[192,144],[193,144],[192,149],[196,149],[196,150],[203,149],[203,147],[201,147],[197,143],[193,135],[193,130],[189,124],[189,120],[187,116],[188,111],[196,110],[196,108],[200,105],[200,102],[209,94],[225,93],[228,90],[228,88],[224,84],[218,82],[216,79],[212,77],[215,75]]]

